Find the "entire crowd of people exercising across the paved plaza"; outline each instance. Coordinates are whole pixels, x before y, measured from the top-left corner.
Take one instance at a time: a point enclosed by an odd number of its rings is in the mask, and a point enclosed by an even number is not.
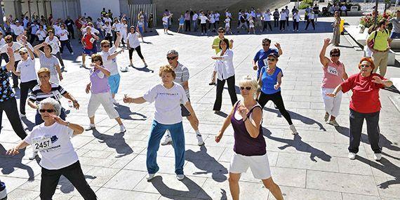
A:
[[[298,30],[298,10],[293,8],[293,30]],[[296,15],[297,14],[297,15]],[[397,12],[400,17],[400,11]],[[163,14],[164,32],[168,33],[168,25],[171,25],[172,13],[168,10]],[[307,26],[309,23],[314,27],[316,22],[314,9],[307,13]],[[262,180],[262,183],[274,195],[276,199],[283,199],[281,189],[272,180],[269,168],[269,161],[266,152],[265,138],[262,134],[262,113],[263,108],[269,100],[274,102],[276,109],[288,122],[288,128],[292,134],[298,134],[292,122],[291,114],[284,106],[281,94],[281,85],[284,83],[284,70],[278,67],[279,58],[284,51],[279,43],[272,46],[270,39],[262,39],[260,50],[255,53],[251,62],[254,72],[239,79],[241,99],[238,100],[235,91],[235,67],[234,41],[227,39],[225,34],[232,33],[232,15],[229,11],[225,13],[225,27],[220,27],[220,13],[213,11],[186,11],[180,16],[179,28],[185,31],[196,31],[198,25],[202,34],[218,32],[213,40],[211,50],[215,60],[210,85],[216,84],[216,97],[213,105],[215,113],[221,112],[222,92],[227,82],[232,110],[227,115],[220,131],[215,135],[215,142],[220,142],[229,124],[234,130],[234,155],[229,166],[229,188],[233,199],[239,199],[239,179],[241,173],[250,167],[254,178]],[[239,11],[239,26],[237,31],[243,27],[246,32],[256,30],[272,30],[271,20],[274,20],[274,27],[283,31],[288,25],[289,11],[286,8],[274,13],[266,11],[260,13],[252,8],[250,11]],[[2,112],[11,123],[13,131],[21,141],[7,154],[15,155],[21,149],[32,145],[32,156],[34,159],[41,154],[41,199],[51,199],[55,192],[60,175],[64,175],[78,190],[84,199],[96,199],[95,192],[88,185],[84,178],[79,157],[76,154],[71,142],[73,135],[79,135],[84,131],[95,129],[95,112],[102,105],[110,119],[115,119],[119,124],[119,131],[125,133],[127,130],[121,121],[119,113],[114,108],[119,102],[115,95],[119,91],[121,71],[128,71],[128,67],[119,67],[116,58],[124,51],[119,48],[126,46],[129,51],[130,64],[133,66],[133,51],[137,51],[145,67],[147,64],[140,50],[139,38],[147,30],[152,29],[152,15],[140,13],[138,25],[128,29],[125,15],[112,20],[112,13],[101,12],[101,18],[92,21],[90,17],[79,17],[75,22],[70,18],[67,20],[36,19],[31,22],[25,17],[22,22],[8,18],[10,32],[6,36],[0,32],[2,46],[0,47],[1,60],[6,65],[0,67],[0,117]],[[340,21],[338,13],[335,13],[333,23],[333,39],[325,39],[319,59],[322,65],[324,78],[321,84],[321,97],[324,101],[326,113],[324,120],[332,126],[339,126],[336,118],[340,112],[342,93],[352,91],[350,101],[349,117],[349,159],[355,159],[359,151],[361,140],[361,129],[366,119],[368,139],[371,149],[374,152],[374,159],[379,161],[382,158],[382,147],[380,146],[379,114],[380,100],[379,91],[381,88],[392,86],[392,82],[385,79],[387,66],[387,51],[389,50],[391,36],[385,29],[386,20],[378,23],[378,28],[371,32],[368,37],[368,48],[371,50],[370,57],[361,58],[359,62],[360,72],[349,76],[345,65],[340,62],[340,49],[333,48],[326,57],[326,51],[330,44],[338,45],[339,39],[336,35],[337,21]],[[295,22],[297,24],[295,24]],[[399,20],[389,20],[394,26],[399,27]],[[65,109],[60,104],[60,98],[67,98],[72,106],[79,109],[79,102],[74,96],[65,91],[60,83],[64,79],[66,66],[62,62],[64,46],[67,46],[71,54],[70,39],[74,39],[74,26],[78,28],[78,38],[83,46],[82,65],[86,67],[86,55],[91,56],[89,75],[90,81],[86,85],[86,93],[91,93],[88,102],[89,124],[84,128],[78,124],[68,121]],[[193,26],[192,26],[193,25]],[[192,27],[191,27],[192,26]],[[315,28],[315,27],[314,27]],[[12,30],[12,31],[11,31]],[[392,35],[397,36],[396,31]],[[113,37],[114,36],[114,37]],[[143,40],[142,40],[143,41]],[[371,42],[373,41],[373,42]],[[36,45],[34,45],[36,44]],[[98,51],[97,45],[100,45]],[[175,151],[175,173],[178,180],[185,179],[183,166],[185,163],[185,131],[182,125],[183,116],[187,118],[195,131],[198,145],[205,145],[201,132],[199,131],[199,119],[196,116],[189,95],[189,69],[178,61],[179,53],[171,49],[166,52],[166,64],[159,68],[159,84],[149,87],[149,90],[138,97],[124,96],[124,103],[142,104],[154,102],[154,120],[150,125],[149,142],[147,145],[147,180],[152,180],[159,171],[157,164],[157,151],[159,145],[173,145]],[[40,69],[36,71],[35,59],[40,61]],[[385,63],[386,62],[386,63]],[[249,63],[250,64],[250,63]],[[380,69],[380,74],[376,74]],[[251,68],[250,68],[251,70]],[[10,84],[10,75],[13,79],[13,86]],[[252,76],[256,78],[252,78]],[[20,83],[19,83],[20,82]],[[15,98],[13,88],[20,88],[20,105]],[[29,93],[30,91],[30,93]],[[21,118],[26,117],[26,103],[36,110],[35,126],[28,134],[25,132]],[[1,118],[0,118],[1,123]],[[1,124],[0,124],[1,127]],[[166,134],[165,134],[166,133]],[[165,135],[165,136],[164,136]],[[164,141],[161,142],[161,140]],[[0,185],[1,186],[1,185]]]

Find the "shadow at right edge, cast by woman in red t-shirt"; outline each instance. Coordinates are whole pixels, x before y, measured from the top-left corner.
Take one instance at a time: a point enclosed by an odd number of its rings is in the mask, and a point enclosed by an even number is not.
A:
[[[356,160],[359,160],[359,161],[363,162],[364,164],[367,164],[379,171],[382,171],[383,173],[386,173],[389,176],[394,177],[393,180],[387,180],[385,182],[381,182],[380,184],[378,184],[378,186],[381,189],[387,189],[387,188],[389,188],[389,185],[400,184],[400,179],[399,179],[400,178],[400,168],[399,168],[399,166],[392,164],[387,159],[382,158],[382,159],[380,159],[379,162],[376,162],[376,161],[370,161],[361,156],[356,156]]]

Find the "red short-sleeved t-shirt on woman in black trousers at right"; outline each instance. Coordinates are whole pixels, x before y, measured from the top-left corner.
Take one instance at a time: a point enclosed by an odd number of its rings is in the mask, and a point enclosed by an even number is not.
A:
[[[368,77],[359,74],[353,74],[349,79],[340,84],[342,92],[346,93],[352,90],[352,100],[350,100],[350,108],[356,112],[372,113],[380,111],[379,89],[383,88],[383,84],[375,84],[373,76],[378,76],[382,80],[386,80],[380,74],[371,74]]]

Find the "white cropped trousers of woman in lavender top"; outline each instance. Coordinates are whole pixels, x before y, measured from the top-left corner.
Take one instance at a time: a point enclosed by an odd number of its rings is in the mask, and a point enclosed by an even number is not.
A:
[[[100,105],[104,107],[105,112],[107,112],[109,116],[109,119],[116,119],[117,117],[119,117],[118,112],[116,112],[116,109],[114,109],[114,105],[112,104],[111,93],[92,93],[88,105],[88,116],[95,116],[95,112]]]

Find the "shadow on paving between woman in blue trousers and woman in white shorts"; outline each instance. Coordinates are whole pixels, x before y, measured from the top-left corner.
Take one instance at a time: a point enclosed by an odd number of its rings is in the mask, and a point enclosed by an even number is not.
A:
[[[207,154],[207,148],[205,145],[200,147],[199,152],[194,152],[189,149],[185,152],[185,160],[191,162],[201,171],[196,171],[194,174],[212,174],[213,180],[217,182],[224,182],[227,180],[226,174],[228,173],[227,168],[222,166],[214,157]]]

